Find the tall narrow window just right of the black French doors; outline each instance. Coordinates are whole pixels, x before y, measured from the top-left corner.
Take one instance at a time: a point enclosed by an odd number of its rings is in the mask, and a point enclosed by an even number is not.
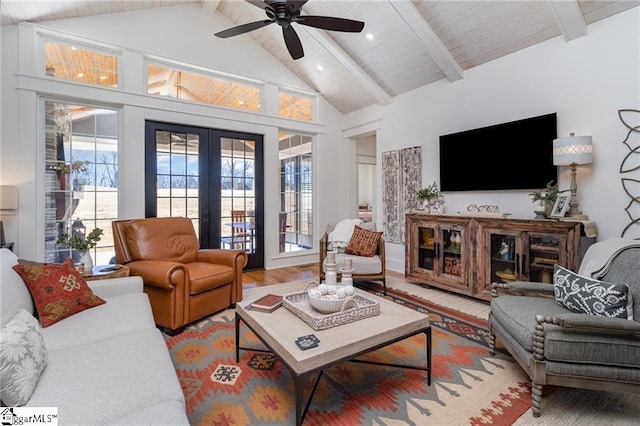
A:
[[[310,136],[281,134],[280,252],[313,247],[313,144]]]

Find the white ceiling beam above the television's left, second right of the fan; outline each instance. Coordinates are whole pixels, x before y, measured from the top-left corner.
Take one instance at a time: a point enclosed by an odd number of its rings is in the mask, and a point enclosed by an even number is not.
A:
[[[413,3],[410,1],[397,0],[387,0],[387,3],[395,9],[400,19],[407,24],[409,30],[415,35],[425,50],[429,52],[431,58],[447,75],[449,81],[462,80],[464,78],[462,67],[456,62],[451,52],[449,52],[449,49],[442,43]]]

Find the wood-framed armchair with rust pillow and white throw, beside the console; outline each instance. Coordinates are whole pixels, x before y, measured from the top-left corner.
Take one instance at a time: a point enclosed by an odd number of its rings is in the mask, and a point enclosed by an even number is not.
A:
[[[327,251],[336,252],[336,262],[338,263],[338,279],[341,279],[342,274],[339,272],[340,268],[344,266],[345,257],[350,257],[353,263],[353,281],[380,281],[384,288],[384,294],[387,294],[386,283],[386,265],[385,265],[385,252],[384,252],[384,239],[382,236],[378,238],[375,251],[372,256],[359,256],[351,253],[345,253],[350,241],[330,241],[329,236],[336,228],[339,228],[346,221],[341,221],[336,225],[329,225],[327,231],[320,239],[320,280],[325,279],[325,266],[324,261],[327,256]],[[354,227],[359,226],[364,230],[375,232],[375,222],[362,222],[361,220],[354,220]],[[358,225],[355,225],[355,224]],[[381,233],[378,233],[381,234]],[[352,234],[349,234],[352,236]],[[346,239],[346,238],[344,238]]]

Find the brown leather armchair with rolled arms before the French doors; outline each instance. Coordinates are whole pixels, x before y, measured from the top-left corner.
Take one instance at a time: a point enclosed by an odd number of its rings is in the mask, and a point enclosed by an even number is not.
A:
[[[190,219],[112,222],[116,263],[144,281],[153,316],[168,334],[242,300],[243,250],[200,249]]]

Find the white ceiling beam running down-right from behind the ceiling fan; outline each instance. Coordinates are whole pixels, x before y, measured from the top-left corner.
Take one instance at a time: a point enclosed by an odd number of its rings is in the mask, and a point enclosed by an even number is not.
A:
[[[300,25],[299,27],[309,34],[320,46],[325,49],[340,65],[350,72],[357,81],[362,84],[365,89],[382,105],[391,103],[391,96],[365,71],[360,65],[353,60],[351,56],[345,52],[338,43],[336,43],[323,30]],[[296,28],[296,29],[297,29]]]

